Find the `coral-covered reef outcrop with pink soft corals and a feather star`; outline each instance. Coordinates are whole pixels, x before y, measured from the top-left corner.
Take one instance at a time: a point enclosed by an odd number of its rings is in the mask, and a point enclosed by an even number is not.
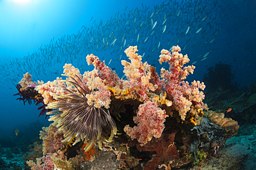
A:
[[[185,81],[195,69],[184,67],[188,55],[179,46],[162,50],[159,62],[170,67],[159,76],[137,52],[137,46],[125,50],[125,79],[91,54],[92,71],[65,64],[66,79],[32,87],[54,122],[40,132],[44,156],[28,161],[31,169],[171,169],[217,155],[239,126],[211,111],[206,116],[213,123],[203,118],[205,85]]]

